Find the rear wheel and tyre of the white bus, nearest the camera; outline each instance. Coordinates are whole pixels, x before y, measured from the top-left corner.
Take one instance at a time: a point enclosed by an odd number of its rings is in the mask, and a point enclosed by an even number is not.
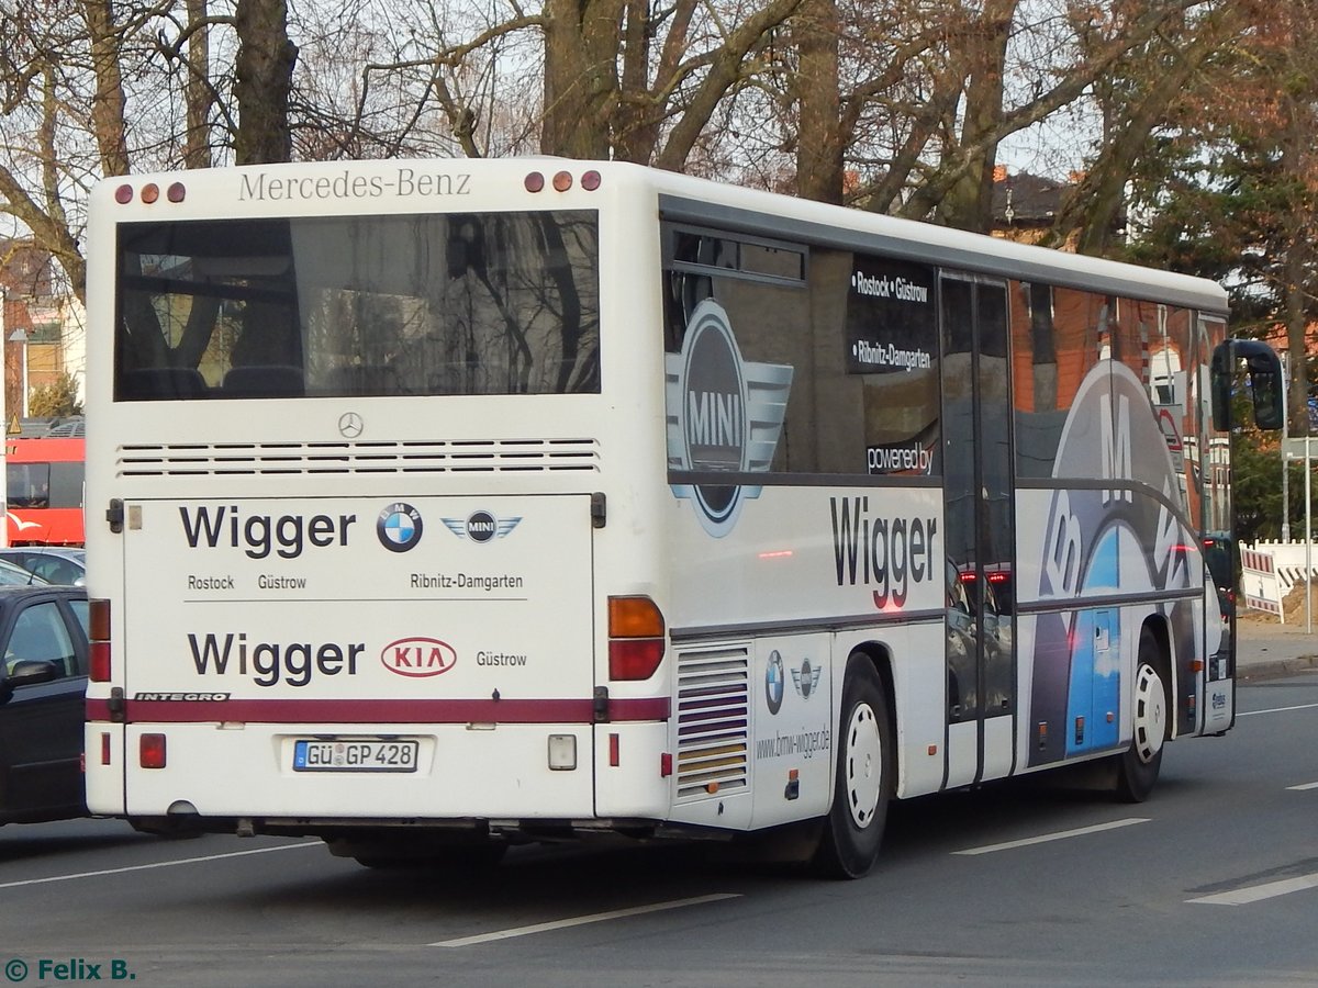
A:
[[[838,735],[833,804],[815,869],[826,877],[859,879],[879,858],[894,772],[883,681],[861,652],[846,660]]]

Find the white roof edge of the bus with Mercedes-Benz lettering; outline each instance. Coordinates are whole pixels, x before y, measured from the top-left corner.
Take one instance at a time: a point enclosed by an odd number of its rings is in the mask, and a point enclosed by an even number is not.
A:
[[[539,174],[532,190],[526,180]],[[559,191],[552,177],[568,177]],[[597,188],[583,187],[596,173]],[[1205,312],[1227,294],[1205,278],[1086,257],[1000,237],[730,186],[626,162],[567,158],[378,159],[248,165],[115,177],[92,198],[94,225],[216,217],[339,216],[617,208],[627,188],[655,196],[659,215],[693,225],[886,253],[975,274],[1043,282]]]

